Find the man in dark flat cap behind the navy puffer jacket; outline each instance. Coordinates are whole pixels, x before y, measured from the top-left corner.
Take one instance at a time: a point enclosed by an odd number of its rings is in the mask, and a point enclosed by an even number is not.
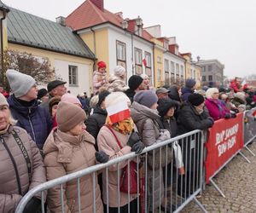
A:
[[[67,82],[61,80],[54,80],[48,83],[47,90],[49,93],[49,100],[53,97],[61,98],[62,95],[67,93],[65,83]],[[49,111],[49,101],[42,103],[41,106]]]

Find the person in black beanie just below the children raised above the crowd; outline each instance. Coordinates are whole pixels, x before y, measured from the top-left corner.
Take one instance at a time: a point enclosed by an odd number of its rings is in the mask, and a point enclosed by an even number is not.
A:
[[[145,89],[143,78],[137,75],[131,76],[128,80],[128,86],[129,86],[129,89],[125,91],[125,95],[128,96],[128,98],[132,103],[134,95],[138,91]]]

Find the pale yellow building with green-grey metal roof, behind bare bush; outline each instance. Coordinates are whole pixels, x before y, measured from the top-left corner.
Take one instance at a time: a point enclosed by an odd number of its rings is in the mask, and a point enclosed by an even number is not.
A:
[[[53,22],[10,8],[7,26],[5,49],[48,60],[55,78],[66,81],[73,95],[91,92],[95,56],[61,17]]]

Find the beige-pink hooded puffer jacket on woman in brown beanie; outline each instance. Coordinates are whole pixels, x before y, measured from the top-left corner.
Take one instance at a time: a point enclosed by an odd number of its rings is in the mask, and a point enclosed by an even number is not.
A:
[[[66,176],[96,164],[94,138],[86,131],[72,136],[53,130],[44,144],[47,180]],[[93,212],[93,174],[80,177],[81,212]],[[79,212],[77,180],[63,184],[64,212]],[[100,187],[95,185],[96,212],[103,212]],[[61,186],[48,190],[50,212],[61,212]]]

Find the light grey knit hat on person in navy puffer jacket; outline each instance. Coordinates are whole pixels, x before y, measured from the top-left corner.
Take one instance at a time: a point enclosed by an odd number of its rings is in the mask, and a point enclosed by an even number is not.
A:
[[[29,89],[32,89],[32,86],[36,84],[34,78],[15,70],[7,70],[6,77],[16,98],[26,95]]]

